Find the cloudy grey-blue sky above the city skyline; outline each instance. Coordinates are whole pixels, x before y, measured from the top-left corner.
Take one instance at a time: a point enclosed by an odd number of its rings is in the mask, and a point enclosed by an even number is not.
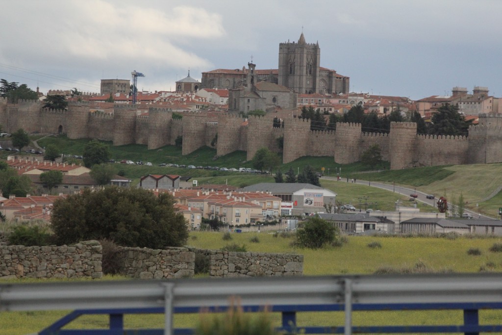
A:
[[[0,12],[0,78],[42,92],[100,79],[172,90],[218,68],[277,69],[279,43],[319,42],[350,90],[420,99],[453,86],[502,96],[498,0],[18,0]],[[247,66],[247,65],[246,65]]]

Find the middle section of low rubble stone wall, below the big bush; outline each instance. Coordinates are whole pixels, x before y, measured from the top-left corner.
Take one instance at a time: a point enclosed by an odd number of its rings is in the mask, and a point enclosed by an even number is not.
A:
[[[193,277],[195,252],[187,248],[119,247],[123,264],[120,274],[138,279]]]

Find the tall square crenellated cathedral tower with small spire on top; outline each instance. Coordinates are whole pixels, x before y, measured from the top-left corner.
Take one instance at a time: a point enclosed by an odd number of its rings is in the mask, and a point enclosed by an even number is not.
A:
[[[278,84],[297,93],[318,93],[320,62],[319,43],[306,43],[303,33],[298,43],[280,43]]]

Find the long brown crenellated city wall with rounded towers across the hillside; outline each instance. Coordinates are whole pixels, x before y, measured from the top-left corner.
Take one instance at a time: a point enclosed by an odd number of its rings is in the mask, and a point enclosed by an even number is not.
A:
[[[202,111],[173,120],[172,111],[165,108],[151,107],[148,116],[138,116],[134,105],[116,104],[112,115],[89,113],[89,109],[85,101],[71,103],[67,110],[50,110],[41,109],[38,100],[8,104],[0,98],[0,124],[10,133],[23,128],[29,133],[64,133],[70,139],[112,141],[115,146],[144,144],[149,149],[174,145],[183,136],[183,155],[210,147],[218,134],[218,156],[243,150],[247,160],[262,147],[280,152],[277,139],[284,136],[284,163],[303,156],[333,156],[336,163],[349,164],[373,144],[380,146],[391,169],[502,162],[502,116],[493,114],[480,114],[468,137],[451,137],[417,135],[414,123],[391,123],[388,135],[361,133],[360,124],[350,123],[338,123],[335,132],[317,132],[310,130],[309,120],[299,118],[285,119],[284,128],[274,128],[273,114],[249,117],[245,125],[238,116],[223,114],[215,121]]]

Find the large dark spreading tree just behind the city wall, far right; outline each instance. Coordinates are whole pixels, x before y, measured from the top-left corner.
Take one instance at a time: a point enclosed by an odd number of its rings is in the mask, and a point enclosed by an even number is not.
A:
[[[445,103],[432,115],[429,134],[467,136],[470,125],[472,120],[465,120],[456,105]]]

